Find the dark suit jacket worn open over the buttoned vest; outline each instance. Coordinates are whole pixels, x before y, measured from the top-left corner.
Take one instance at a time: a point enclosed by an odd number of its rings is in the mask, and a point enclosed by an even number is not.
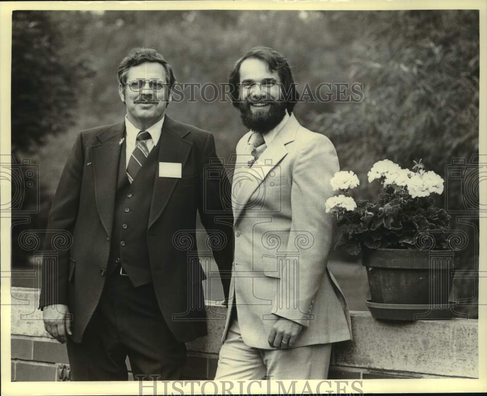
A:
[[[106,279],[124,132],[122,122],[79,133],[48,218],[45,251],[53,249],[51,235],[56,230],[70,232],[73,242],[57,250],[54,263],[44,263],[39,305],[69,306],[75,342],[81,341]],[[209,245],[220,274],[225,275],[232,266],[233,218],[222,197],[230,196],[230,184],[222,163],[212,160],[217,157],[211,133],[166,116],[159,144],[158,161],[182,163],[182,178],[159,177],[157,172],[153,191],[147,191],[152,194],[147,225],[150,269],[161,312],[176,339],[186,342],[206,335],[196,211],[212,237]],[[206,177],[208,172],[212,177]],[[222,177],[215,177],[218,172]],[[222,281],[226,298],[229,277],[222,276]]]

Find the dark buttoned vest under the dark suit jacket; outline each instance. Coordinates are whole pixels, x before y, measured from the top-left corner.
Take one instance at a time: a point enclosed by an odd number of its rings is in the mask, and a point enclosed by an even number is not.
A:
[[[160,139],[159,139],[160,142]],[[159,143],[153,147],[132,184],[126,174],[126,145],[121,147],[108,274],[122,265],[134,287],[152,282],[147,226],[158,168]]]

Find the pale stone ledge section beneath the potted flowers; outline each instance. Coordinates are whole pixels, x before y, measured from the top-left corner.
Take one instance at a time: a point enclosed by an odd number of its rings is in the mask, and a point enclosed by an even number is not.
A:
[[[352,312],[352,342],[335,347],[334,364],[451,377],[478,377],[478,321],[386,322]]]

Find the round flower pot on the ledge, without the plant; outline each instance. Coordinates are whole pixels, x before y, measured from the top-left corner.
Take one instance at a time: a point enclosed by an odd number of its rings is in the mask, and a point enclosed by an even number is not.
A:
[[[371,307],[383,308],[389,314],[378,319],[395,320],[419,319],[403,315],[408,310],[416,314],[451,310],[455,258],[450,250],[364,249],[362,264],[367,268],[372,298],[369,310],[375,316]],[[389,317],[398,310],[399,317]]]

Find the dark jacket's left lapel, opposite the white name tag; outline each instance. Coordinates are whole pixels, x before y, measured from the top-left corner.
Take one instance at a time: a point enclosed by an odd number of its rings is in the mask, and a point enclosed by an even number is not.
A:
[[[125,122],[116,124],[97,135],[99,144],[91,150],[95,183],[95,201],[101,223],[110,237],[117,185],[118,165],[124,136]],[[125,145],[123,145],[125,147]]]

